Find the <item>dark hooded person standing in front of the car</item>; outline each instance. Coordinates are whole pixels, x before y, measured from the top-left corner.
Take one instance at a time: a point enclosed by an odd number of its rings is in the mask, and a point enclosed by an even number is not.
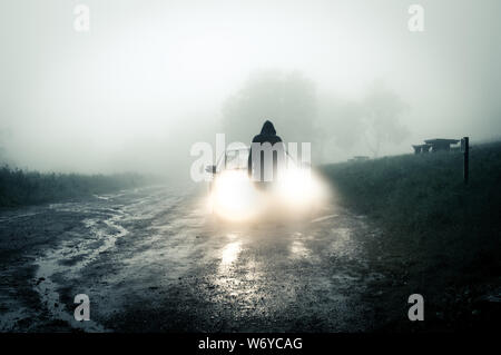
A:
[[[267,120],[264,122],[261,134],[253,138],[248,155],[248,175],[254,181],[275,181],[279,167],[284,162],[284,144],[282,138],[276,135],[273,124]]]

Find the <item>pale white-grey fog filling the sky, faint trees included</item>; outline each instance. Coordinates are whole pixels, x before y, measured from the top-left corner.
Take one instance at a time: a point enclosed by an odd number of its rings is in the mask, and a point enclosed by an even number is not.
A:
[[[411,32],[415,2],[2,1],[0,159],[188,178],[193,144],[265,119],[318,162],[499,138],[501,2],[419,1]]]

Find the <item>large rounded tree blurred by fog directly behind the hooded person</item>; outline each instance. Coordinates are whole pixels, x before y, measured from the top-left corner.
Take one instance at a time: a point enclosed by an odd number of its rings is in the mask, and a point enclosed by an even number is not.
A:
[[[297,71],[254,72],[223,107],[227,139],[245,144],[261,131],[266,119],[284,141],[313,142],[315,117],[315,86]]]

